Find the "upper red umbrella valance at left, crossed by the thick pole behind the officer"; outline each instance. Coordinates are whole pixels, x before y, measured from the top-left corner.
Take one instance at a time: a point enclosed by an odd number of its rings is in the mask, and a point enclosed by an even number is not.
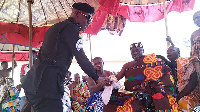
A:
[[[32,31],[32,47],[40,47],[50,26],[35,27]],[[0,22],[0,43],[29,46],[29,29],[25,25]]]

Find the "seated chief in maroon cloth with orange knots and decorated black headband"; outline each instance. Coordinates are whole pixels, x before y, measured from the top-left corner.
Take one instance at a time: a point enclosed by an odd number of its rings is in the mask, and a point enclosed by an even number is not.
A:
[[[104,111],[177,111],[175,87],[164,62],[155,54],[143,55],[140,42],[131,44],[130,51],[134,60],[124,64],[116,75],[118,80],[125,77],[125,92],[121,96],[113,94]]]

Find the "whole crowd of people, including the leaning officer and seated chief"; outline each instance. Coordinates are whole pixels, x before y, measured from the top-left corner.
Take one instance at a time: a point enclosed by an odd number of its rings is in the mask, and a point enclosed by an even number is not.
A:
[[[191,36],[190,57],[181,57],[170,37],[168,59],[144,55],[142,43],[134,42],[133,60],[113,73],[104,70],[101,57],[90,62],[82,48],[80,32],[90,24],[94,8],[86,3],[72,7],[68,19],[46,32],[39,53],[33,51],[33,66],[22,66],[21,84],[10,88],[9,99],[1,102],[3,112],[191,112],[200,106],[200,29]],[[200,27],[200,11],[193,20]],[[73,57],[85,74],[68,71]],[[1,66],[0,77],[8,77],[12,68],[7,62]]]

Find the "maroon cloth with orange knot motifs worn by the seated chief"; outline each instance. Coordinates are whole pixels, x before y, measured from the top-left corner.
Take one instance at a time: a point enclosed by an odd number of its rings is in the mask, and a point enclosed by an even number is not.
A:
[[[131,92],[147,93],[153,100],[156,112],[176,112],[178,104],[175,98],[175,87],[171,80],[171,74],[162,73],[165,63],[157,59],[155,54],[141,57],[137,62],[126,68],[125,90]],[[117,97],[113,94],[108,105],[104,105],[105,112],[135,112],[142,111],[145,104],[139,101],[135,95]]]

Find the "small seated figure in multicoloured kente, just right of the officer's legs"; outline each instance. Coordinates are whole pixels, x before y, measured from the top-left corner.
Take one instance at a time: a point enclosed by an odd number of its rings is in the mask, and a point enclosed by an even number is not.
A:
[[[72,109],[75,112],[85,112],[86,101],[90,93],[86,84],[80,82],[78,73],[74,75],[74,82],[69,85],[69,89],[72,98]]]

